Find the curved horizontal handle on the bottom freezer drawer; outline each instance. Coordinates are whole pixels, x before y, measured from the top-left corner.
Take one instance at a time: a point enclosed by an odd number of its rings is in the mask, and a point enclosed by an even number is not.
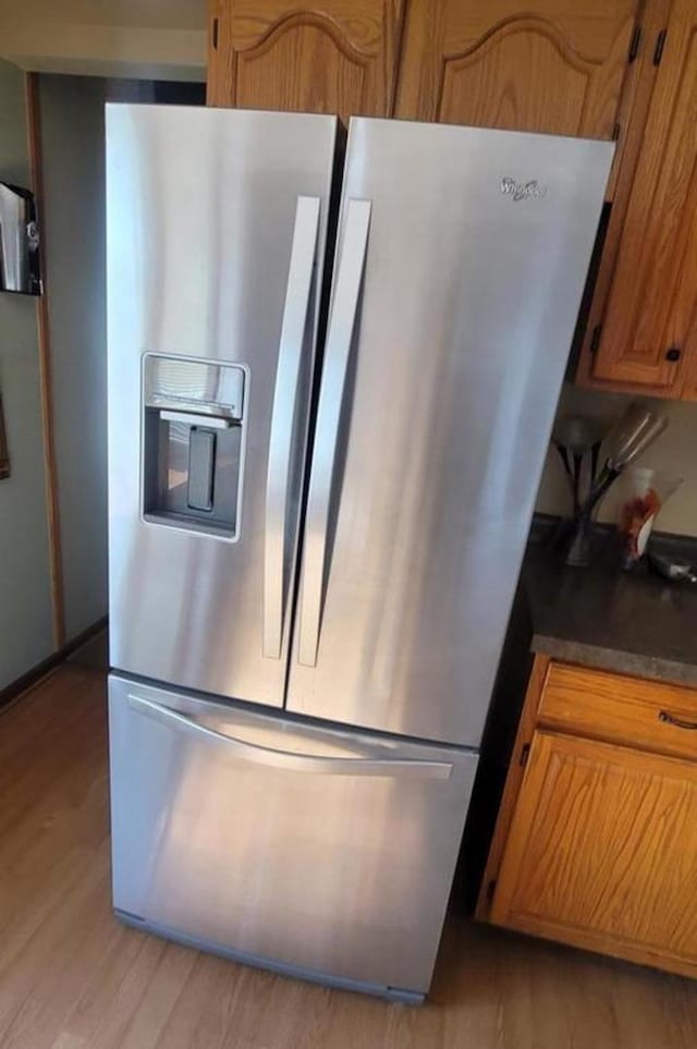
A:
[[[427,761],[419,758],[333,758],[293,751],[276,751],[272,747],[247,743],[222,732],[216,732],[186,715],[163,707],[152,699],[129,696],[129,706],[137,713],[159,721],[161,724],[185,732],[207,743],[224,746],[229,754],[242,761],[270,765],[289,772],[319,772],[325,776],[383,776],[399,779],[448,780],[453,767],[449,761]]]

